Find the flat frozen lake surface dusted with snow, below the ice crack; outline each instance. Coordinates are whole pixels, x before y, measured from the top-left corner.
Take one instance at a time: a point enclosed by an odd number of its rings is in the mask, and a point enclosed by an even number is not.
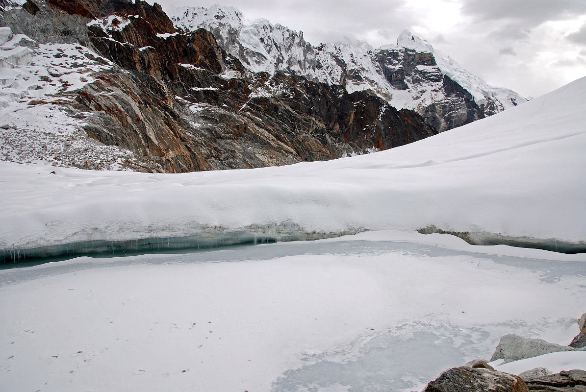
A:
[[[379,231],[1,270],[0,386],[421,390],[506,333],[567,345],[585,262]]]

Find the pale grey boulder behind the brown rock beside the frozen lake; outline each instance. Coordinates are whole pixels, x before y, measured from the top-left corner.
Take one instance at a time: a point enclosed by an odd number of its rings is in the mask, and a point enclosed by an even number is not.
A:
[[[571,350],[574,350],[574,348],[548,343],[542,339],[523,338],[519,335],[510,334],[500,338],[499,345],[496,346],[495,353],[492,354],[490,362],[497,359],[504,359],[505,362],[511,362],[543,354]]]

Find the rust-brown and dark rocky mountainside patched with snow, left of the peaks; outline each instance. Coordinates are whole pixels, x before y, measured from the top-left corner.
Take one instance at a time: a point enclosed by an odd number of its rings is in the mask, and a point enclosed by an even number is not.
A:
[[[32,58],[0,86],[10,90],[0,138],[13,149],[4,159],[42,161],[46,151],[56,165],[188,172],[326,160],[437,134],[372,91],[253,73],[207,30],[176,30],[156,4],[28,1],[2,15],[15,36],[36,40]],[[19,120],[57,112],[71,121],[46,137]],[[64,160],[68,149],[47,147],[63,132],[118,150]]]

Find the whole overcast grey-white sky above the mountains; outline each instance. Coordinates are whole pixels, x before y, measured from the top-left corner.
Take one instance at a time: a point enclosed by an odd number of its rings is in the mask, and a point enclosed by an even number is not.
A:
[[[523,96],[537,97],[586,76],[586,0],[157,2],[163,9],[233,5],[247,19],[302,30],[313,45],[346,37],[379,47],[410,29],[489,84]]]

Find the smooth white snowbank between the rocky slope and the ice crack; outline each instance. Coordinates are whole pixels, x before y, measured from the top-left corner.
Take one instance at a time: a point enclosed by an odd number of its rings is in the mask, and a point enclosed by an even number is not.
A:
[[[202,227],[336,235],[432,224],[584,241],[584,97],[586,78],[413,144],[329,162],[155,175],[53,175],[0,162],[0,248],[190,236]]]

